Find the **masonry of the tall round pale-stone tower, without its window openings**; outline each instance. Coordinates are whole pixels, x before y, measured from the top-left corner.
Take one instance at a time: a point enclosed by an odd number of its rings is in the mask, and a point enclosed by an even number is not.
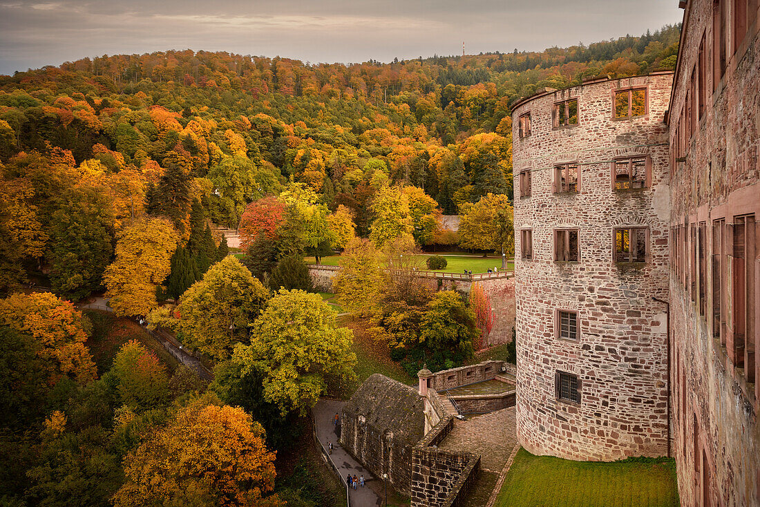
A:
[[[515,173],[517,430],[537,455],[611,461],[667,453],[667,299],[670,73],[600,80],[518,103]],[[646,87],[645,116],[613,119],[614,91]],[[578,125],[553,128],[553,104],[578,98]],[[532,133],[519,137],[530,112]],[[651,157],[651,187],[614,191],[616,157]],[[553,193],[553,167],[578,163],[577,194]],[[521,198],[521,170],[532,192]],[[613,261],[614,227],[648,227],[647,261]],[[579,261],[553,260],[555,228],[578,228]],[[533,234],[521,259],[520,230]],[[578,312],[578,340],[556,337],[559,309]],[[560,401],[557,372],[577,375],[580,403]]]

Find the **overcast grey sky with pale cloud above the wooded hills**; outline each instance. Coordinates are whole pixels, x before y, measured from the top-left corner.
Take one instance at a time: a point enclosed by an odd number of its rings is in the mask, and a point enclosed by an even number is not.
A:
[[[0,0],[0,74],[205,49],[309,62],[540,50],[681,21],[676,0]]]

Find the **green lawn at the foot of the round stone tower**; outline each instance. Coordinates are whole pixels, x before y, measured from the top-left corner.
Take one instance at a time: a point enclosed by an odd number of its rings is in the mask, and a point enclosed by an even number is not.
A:
[[[534,456],[521,448],[496,507],[677,507],[672,459],[614,463]]]

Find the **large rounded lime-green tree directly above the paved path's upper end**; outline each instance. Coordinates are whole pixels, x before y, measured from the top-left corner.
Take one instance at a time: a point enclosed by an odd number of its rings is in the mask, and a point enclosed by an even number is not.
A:
[[[233,365],[263,376],[264,400],[281,414],[304,414],[325,392],[328,379],[353,379],[352,334],[335,323],[321,296],[280,290],[256,320],[251,344],[238,345]]]

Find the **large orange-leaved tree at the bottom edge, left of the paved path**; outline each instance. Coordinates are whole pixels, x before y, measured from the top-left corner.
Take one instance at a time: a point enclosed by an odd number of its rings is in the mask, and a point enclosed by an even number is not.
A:
[[[268,495],[274,489],[274,458],[261,424],[242,408],[201,398],[126,455],[126,482],[113,502],[116,507],[283,505]]]

